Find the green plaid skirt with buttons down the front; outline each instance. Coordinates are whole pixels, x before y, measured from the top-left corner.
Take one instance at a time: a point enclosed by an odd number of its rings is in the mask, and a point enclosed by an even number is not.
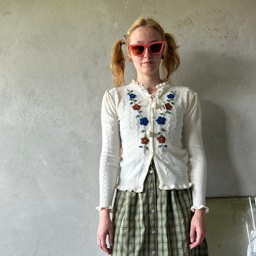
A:
[[[143,192],[116,192],[111,256],[208,256],[205,239],[189,249],[191,205],[191,189],[159,189],[151,163]]]

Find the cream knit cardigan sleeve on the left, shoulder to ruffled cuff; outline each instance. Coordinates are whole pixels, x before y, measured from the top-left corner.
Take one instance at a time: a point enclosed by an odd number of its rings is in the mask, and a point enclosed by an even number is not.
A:
[[[113,212],[112,200],[116,187],[120,163],[119,120],[116,102],[107,91],[102,100],[102,153],[99,167],[100,201],[97,210],[110,209]]]

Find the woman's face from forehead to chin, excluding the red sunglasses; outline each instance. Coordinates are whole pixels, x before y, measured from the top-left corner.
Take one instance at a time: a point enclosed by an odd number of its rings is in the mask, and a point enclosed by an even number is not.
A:
[[[135,29],[130,36],[130,45],[150,44],[158,41],[163,41],[161,35],[156,29],[152,27],[139,27]],[[138,77],[159,77],[159,66],[161,63],[162,52],[160,52],[159,54],[151,54],[150,50],[146,48],[144,55],[136,56],[133,54],[133,52],[131,52],[131,50],[128,50],[128,55],[133,60]]]

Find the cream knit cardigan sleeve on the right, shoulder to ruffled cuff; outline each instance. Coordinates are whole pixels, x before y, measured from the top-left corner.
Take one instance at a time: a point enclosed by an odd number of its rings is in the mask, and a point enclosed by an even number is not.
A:
[[[205,206],[207,164],[201,129],[201,107],[197,93],[187,92],[187,110],[183,119],[182,144],[188,152],[189,180],[192,183],[191,210],[209,208]]]

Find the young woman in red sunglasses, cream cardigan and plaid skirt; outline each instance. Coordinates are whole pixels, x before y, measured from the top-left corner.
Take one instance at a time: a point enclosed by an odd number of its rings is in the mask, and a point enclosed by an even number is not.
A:
[[[120,87],[122,44],[137,78]],[[177,48],[156,21],[139,18],[112,49],[116,87],[102,102],[96,208],[98,246],[112,256],[208,255],[201,109],[197,93],[168,80],[180,64]]]

